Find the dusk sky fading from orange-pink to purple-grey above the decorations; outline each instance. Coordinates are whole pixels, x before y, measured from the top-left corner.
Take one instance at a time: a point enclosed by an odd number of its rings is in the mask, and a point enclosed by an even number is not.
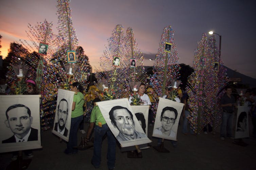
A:
[[[1,0],[0,35],[3,58],[11,42],[27,40],[28,23],[53,22],[57,34],[57,1]],[[107,38],[117,24],[132,27],[144,65],[152,65],[163,29],[171,25],[180,63],[193,66],[194,50],[203,33],[222,36],[224,65],[256,78],[256,1],[255,0],[71,0],[73,27],[79,45],[94,68],[99,66]],[[208,35],[208,34],[207,34]],[[219,45],[219,37],[216,35]]]

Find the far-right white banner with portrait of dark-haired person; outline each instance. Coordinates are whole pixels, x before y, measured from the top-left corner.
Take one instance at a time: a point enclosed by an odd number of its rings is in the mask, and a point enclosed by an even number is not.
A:
[[[249,137],[248,106],[238,106],[235,139]]]

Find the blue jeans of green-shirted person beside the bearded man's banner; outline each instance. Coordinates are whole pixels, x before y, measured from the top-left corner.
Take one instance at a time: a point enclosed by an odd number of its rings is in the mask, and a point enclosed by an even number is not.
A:
[[[80,122],[83,120],[84,115],[71,118],[70,133],[69,133],[69,142],[67,144],[68,153],[76,153],[77,149],[73,149],[74,146],[77,146],[77,130]]]

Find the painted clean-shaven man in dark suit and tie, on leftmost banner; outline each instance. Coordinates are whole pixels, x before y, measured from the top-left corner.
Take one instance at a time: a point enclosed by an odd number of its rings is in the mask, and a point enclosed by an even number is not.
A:
[[[15,104],[5,112],[4,124],[10,128],[14,135],[2,141],[2,143],[16,143],[38,140],[38,130],[31,127],[33,117],[30,109],[22,104]]]

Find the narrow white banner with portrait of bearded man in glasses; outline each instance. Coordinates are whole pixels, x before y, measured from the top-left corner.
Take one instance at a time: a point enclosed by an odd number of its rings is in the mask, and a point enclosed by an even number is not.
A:
[[[63,140],[69,141],[73,91],[58,89],[58,98],[52,133]]]

